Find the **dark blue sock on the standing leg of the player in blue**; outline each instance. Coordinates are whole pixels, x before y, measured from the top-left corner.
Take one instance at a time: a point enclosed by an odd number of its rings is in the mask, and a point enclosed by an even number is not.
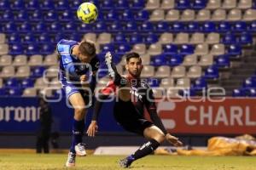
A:
[[[73,119],[73,129],[72,129],[72,144],[70,151],[75,153],[75,145],[83,141],[84,134],[84,119],[82,121],[76,121]]]

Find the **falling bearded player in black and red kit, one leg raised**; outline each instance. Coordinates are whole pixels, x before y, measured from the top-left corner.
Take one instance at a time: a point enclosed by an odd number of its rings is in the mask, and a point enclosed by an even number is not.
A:
[[[120,126],[131,133],[137,133],[148,139],[134,154],[119,161],[120,167],[130,167],[133,161],[151,154],[165,139],[175,146],[182,145],[176,137],[166,132],[156,112],[152,89],[147,82],[140,78],[143,70],[142,59],[137,53],[125,55],[128,71],[126,77],[121,77],[112,63],[112,55],[108,52],[105,56],[108,73],[112,81],[103,88],[96,99],[92,121],[88,127],[89,136],[95,136],[97,130],[97,117],[102,107],[100,100],[107,99],[112,92],[118,96],[114,104],[113,115]],[[144,117],[144,107],[147,109],[152,122]]]

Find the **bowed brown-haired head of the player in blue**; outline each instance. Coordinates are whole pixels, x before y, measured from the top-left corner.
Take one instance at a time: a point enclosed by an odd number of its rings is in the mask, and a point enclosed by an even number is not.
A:
[[[93,42],[80,42],[78,49],[78,57],[83,63],[90,63],[90,59],[96,55],[96,47]]]

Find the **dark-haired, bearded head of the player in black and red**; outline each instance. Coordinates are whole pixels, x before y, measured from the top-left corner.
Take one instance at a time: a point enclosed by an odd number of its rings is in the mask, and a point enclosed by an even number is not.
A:
[[[126,65],[125,68],[132,77],[140,77],[143,70],[142,59],[139,54],[131,52],[125,54]]]

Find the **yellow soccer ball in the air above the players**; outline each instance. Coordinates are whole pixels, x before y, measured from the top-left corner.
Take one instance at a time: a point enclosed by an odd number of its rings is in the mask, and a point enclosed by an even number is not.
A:
[[[78,8],[77,15],[79,20],[85,24],[90,24],[97,20],[98,9],[93,3],[82,3]]]

